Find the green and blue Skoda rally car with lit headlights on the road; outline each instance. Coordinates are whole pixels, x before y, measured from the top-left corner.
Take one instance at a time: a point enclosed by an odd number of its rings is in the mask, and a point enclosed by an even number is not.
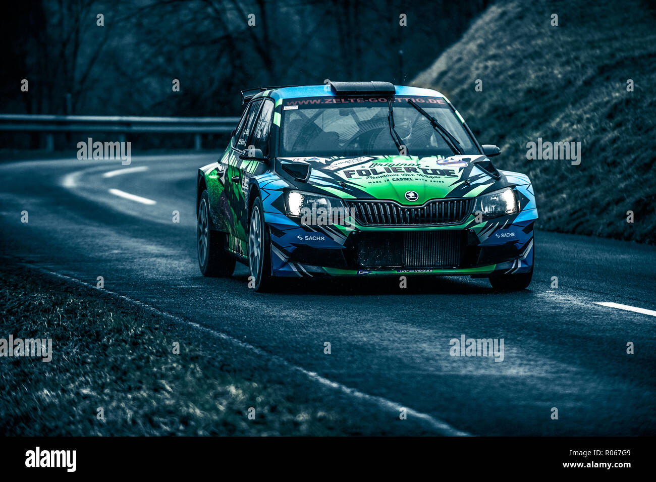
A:
[[[197,177],[203,275],[469,275],[524,289],[537,208],[437,92],[331,82],[242,92],[230,144]]]

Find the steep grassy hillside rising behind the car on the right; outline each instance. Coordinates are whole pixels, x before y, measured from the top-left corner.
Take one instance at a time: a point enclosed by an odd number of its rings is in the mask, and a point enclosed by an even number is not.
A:
[[[531,176],[539,228],[656,243],[650,5],[499,1],[413,85],[443,92],[482,144],[498,144],[499,169]],[[538,138],[581,142],[580,165],[528,160],[527,142]]]

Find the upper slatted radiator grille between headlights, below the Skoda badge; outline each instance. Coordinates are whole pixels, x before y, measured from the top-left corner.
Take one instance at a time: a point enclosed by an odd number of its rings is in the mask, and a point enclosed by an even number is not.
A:
[[[346,201],[361,226],[444,226],[461,223],[472,212],[472,199],[435,199],[422,206],[394,201]]]

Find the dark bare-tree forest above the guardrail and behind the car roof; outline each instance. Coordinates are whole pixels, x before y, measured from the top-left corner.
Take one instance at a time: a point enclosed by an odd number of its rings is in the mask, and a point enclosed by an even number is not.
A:
[[[239,90],[249,87],[324,79],[407,83],[457,41],[487,3],[11,2],[3,5],[0,33],[0,109],[237,115]],[[104,26],[96,24],[98,14]],[[251,14],[255,26],[249,26]],[[407,26],[400,25],[401,14]],[[21,79],[28,79],[29,95],[21,94]],[[173,92],[173,79],[179,79],[180,92]]]

